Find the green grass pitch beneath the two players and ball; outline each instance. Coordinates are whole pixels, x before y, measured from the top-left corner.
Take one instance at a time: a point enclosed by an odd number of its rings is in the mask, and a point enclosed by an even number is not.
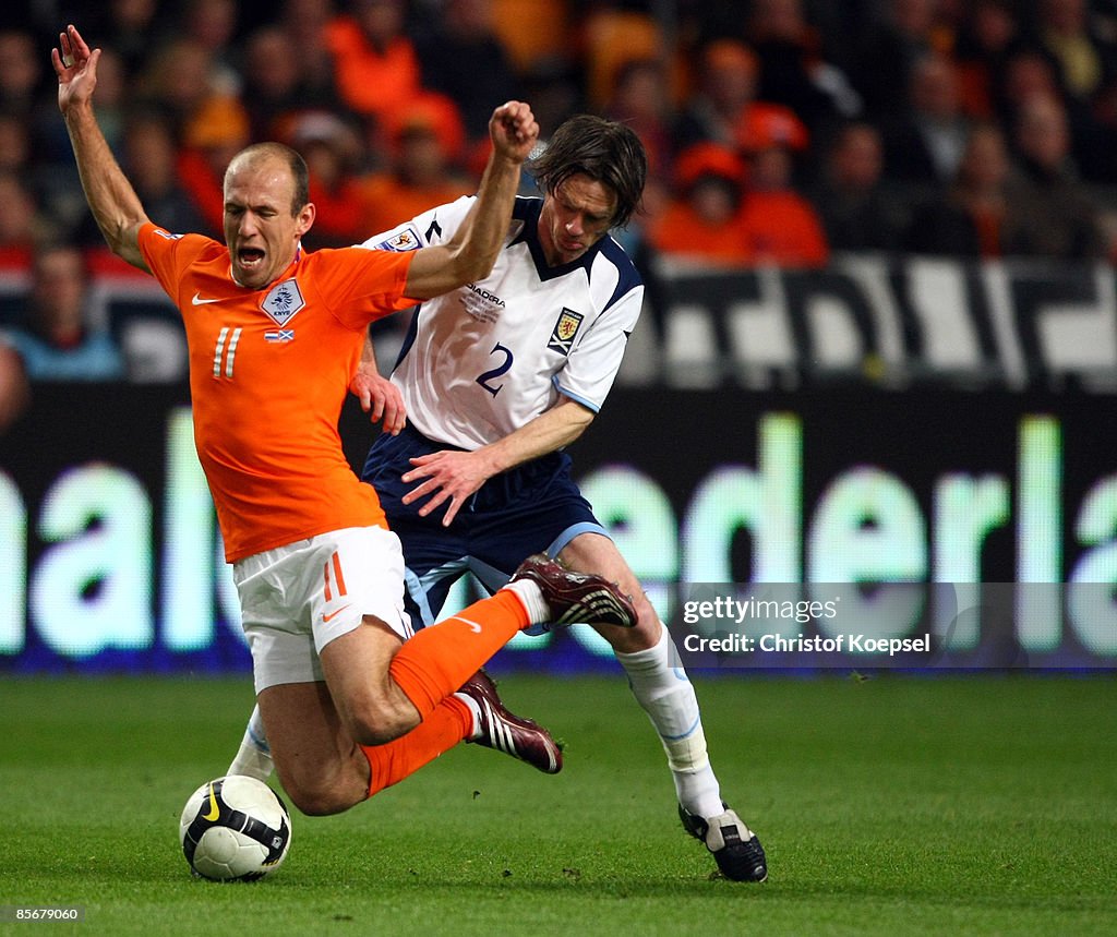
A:
[[[763,886],[712,878],[619,676],[504,678],[565,739],[558,776],[459,746],[346,814],[295,813],[286,863],[252,885],[191,878],[178,845],[248,677],[7,676],[0,905],[145,937],[1117,931],[1113,675],[695,682]]]

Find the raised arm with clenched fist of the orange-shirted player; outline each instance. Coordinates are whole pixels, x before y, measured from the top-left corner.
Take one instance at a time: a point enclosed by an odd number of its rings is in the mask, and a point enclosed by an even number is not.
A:
[[[430,299],[489,275],[512,220],[519,172],[540,136],[532,108],[509,101],[489,119],[493,152],[481,176],[477,201],[454,238],[416,254],[407,295]]]

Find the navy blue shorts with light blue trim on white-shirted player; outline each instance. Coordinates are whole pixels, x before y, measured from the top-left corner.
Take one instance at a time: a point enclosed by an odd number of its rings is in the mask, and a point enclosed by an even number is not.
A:
[[[413,457],[454,448],[432,442],[409,424],[399,436],[381,433],[361,474],[376,489],[388,525],[403,544],[407,610],[416,628],[438,619],[450,586],[466,573],[495,592],[533,553],[556,556],[579,534],[608,536],[571,479],[565,452],[494,476],[449,527],[442,526],[445,506],[420,517],[422,501],[402,501],[419,482],[403,484],[400,476],[413,468]]]

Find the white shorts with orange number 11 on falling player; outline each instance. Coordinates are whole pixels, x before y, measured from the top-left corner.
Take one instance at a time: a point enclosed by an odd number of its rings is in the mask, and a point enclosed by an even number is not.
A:
[[[256,692],[322,680],[318,654],[375,615],[403,640],[400,538],[383,527],[346,527],[246,556],[232,565],[252,652]]]

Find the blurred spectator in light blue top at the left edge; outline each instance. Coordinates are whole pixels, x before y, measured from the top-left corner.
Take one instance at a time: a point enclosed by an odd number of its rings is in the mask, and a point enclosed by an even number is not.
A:
[[[123,377],[116,344],[106,329],[88,321],[87,283],[85,259],[77,248],[56,245],[36,254],[27,306],[7,336],[30,381]]]

